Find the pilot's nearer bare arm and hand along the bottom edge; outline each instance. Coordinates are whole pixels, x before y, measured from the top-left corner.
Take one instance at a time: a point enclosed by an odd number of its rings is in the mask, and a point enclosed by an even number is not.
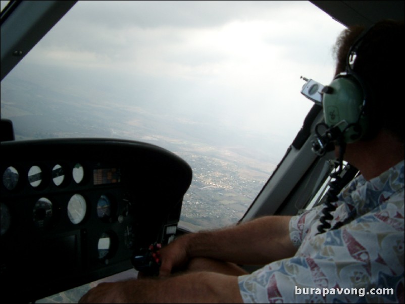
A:
[[[79,303],[243,303],[237,277],[212,272],[102,283]]]

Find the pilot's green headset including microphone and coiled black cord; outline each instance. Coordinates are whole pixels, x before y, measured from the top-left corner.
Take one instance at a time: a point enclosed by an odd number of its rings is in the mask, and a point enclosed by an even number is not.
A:
[[[362,78],[353,71],[358,49],[364,36],[370,31],[366,30],[359,36],[349,49],[346,58],[346,71],[338,74],[332,82],[322,89],[322,107],[325,123],[316,126],[316,140],[312,142],[313,151],[322,156],[330,150],[331,143],[336,141],[339,146],[338,169],[330,174],[329,190],[326,195],[325,207],[322,210],[323,216],[320,218],[320,225],[317,227],[318,234],[326,230],[337,229],[345,224],[339,221],[331,227],[330,221],[333,219],[331,212],[336,210],[334,201],[338,200],[338,193],[347,183],[345,178],[350,180],[356,173],[355,167],[348,167],[349,174],[341,176],[343,172],[343,155],[346,143],[356,142],[362,138],[367,138],[370,134],[369,111],[370,94],[368,87]],[[327,127],[324,135],[318,131],[319,126]],[[334,145],[332,144],[332,148]],[[351,218],[347,218],[350,220]]]

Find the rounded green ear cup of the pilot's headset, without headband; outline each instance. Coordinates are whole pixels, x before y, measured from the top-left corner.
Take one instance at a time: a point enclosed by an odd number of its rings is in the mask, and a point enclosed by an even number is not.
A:
[[[364,97],[363,87],[357,78],[347,73],[336,76],[323,91],[325,123],[329,127],[339,127],[346,143],[362,139],[367,132]]]

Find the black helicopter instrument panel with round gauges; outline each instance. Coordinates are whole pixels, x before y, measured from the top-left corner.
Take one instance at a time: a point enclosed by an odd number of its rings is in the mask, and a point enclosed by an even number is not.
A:
[[[2,298],[34,301],[132,268],[176,232],[191,168],[111,139],[2,142]]]

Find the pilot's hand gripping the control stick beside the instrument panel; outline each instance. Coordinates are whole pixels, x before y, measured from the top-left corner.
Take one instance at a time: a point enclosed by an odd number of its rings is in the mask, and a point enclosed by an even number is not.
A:
[[[191,258],[187,251],[190,236],[191,234],[179,237],[160,250],[162,260],[160,277],[168,277],[173,271],[181,270],[187,265]]]

